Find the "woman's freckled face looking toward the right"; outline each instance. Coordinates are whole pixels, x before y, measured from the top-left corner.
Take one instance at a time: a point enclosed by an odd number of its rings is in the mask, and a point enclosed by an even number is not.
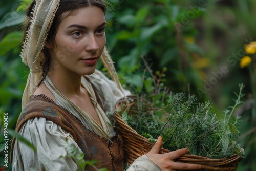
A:
[[[66,16],[69,14],[68,16]],[[50,71],[90,75],[105,47],[105,15],[96,6],[63,13],[53,42],[46,44],[51,55]]]

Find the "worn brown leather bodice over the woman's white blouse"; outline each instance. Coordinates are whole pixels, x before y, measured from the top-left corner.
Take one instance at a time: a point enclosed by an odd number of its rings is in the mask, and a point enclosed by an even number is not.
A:
[[[69,131],[84,153],[84,160],[97,160],[98,162],[94,165],[98,169],[107,168],[109,171],[123,170],[124,153],[120,135],[109,139],[100,137],[86,129],[86,126],[65,108],[55,104],[44,95],[30,97],[27,106],[18,118],[16,131],[18,132],[27,120],[34,117],[44,117]],[[15,138],[12,142],[12,149],[14,143]],[[87,165],[86,170],[95,169]]]

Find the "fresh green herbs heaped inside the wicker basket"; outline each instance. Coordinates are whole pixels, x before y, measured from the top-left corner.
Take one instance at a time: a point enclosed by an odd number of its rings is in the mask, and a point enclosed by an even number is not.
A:
[[[154,78],[158,83],[153,87],[159,84],[162,73],[156,73],[160,77]],[[193,155],[211,159],[226,158],[235,153],[244,158],[244,151],[236,142],[240,136],[235,126],[239,117],[233,115],[244,96],[243,84],[239,87],[235,104],[229,107],[231,110],[224,110],[223,119],[211,112],[210,102],[196,103],[195,95],[169,94],[148,88],[145,90],[151,90],[151,93],[138,96],[137,105],[132,106],[132,112],[124,112],[122,119],[151,142],[155,143],[157,137],[162,136],[163,147],[171,151],[188,148]]]

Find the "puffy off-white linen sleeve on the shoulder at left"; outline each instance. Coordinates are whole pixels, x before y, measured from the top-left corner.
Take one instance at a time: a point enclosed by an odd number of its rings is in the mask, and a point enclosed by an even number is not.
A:
[[[72,135],[60,126],[45,118],[28,120],[19,134],[35,147],[33,151],[26,144],[16,139],[13,148],[13,170],[77,170],[78,166],[70,157],[73,149],[82,153]]]

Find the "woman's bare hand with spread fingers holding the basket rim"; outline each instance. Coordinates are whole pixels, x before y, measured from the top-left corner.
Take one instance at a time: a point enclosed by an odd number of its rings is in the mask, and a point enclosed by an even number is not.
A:
[[[156,144],[152,147],[151,151],[146,155],[147,157],[156,163],[163,171],[165,170],[201,170],[201,165],[190,163],[178,163],[174,162],[178,157],[187,154],[189,151],[186,148],[178,149],[177,151],[159,154],[162,146],[162,137],[158,137]]]

